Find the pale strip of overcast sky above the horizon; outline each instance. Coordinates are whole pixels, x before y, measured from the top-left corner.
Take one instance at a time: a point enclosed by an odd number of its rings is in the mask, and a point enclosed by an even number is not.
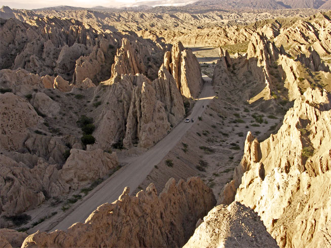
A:
[[[131,7],[138,5],[149,5],[149,6],[180,6],[193,3],[197,0],[117,0],[117,1],[107,1],[107,0],[0,0],[1,6],[9,6],[14,9],[39,9],[45,7],[53,7],[59,5],[75,6],[83,8],[91,8],[95,6],[104,7]]]

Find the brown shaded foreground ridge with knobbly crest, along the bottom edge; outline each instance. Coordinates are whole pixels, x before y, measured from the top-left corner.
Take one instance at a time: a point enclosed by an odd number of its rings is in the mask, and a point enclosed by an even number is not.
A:
[[[179,247],[214,203],[212,190],[199,178],[177,184],[170,179],[160,195],[153,184],[136,196],[125,188],[119,200],[100,205],[85,223],[66,231],[36,232],[22,247]]]

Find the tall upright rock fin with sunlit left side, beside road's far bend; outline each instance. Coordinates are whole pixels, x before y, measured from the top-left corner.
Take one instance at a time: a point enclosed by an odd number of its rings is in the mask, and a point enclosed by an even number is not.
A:
[[[182,96],[198,97],[203,80],[199,62],[191,49],[185,49],[180,42],[176,43],[171,52],[164,54],[163,65],[174,77]]]

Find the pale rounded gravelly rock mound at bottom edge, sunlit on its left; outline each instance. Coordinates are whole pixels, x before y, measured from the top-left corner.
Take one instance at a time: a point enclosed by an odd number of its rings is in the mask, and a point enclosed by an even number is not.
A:
[[[258,214],[235,201],[215,206],[183,247],[278,247]]]

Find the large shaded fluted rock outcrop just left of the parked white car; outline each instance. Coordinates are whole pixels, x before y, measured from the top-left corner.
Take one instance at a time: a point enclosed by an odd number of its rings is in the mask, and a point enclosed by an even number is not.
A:
[[[125,74],[118,80],[109,79],[111,85],[105,93],[108,104],[99,115],[94,147],[106,149],[123,140],[126,147],[139,144],[149,148],[185,115],[175,81],[164,67],[152,82],[142,74]]]

